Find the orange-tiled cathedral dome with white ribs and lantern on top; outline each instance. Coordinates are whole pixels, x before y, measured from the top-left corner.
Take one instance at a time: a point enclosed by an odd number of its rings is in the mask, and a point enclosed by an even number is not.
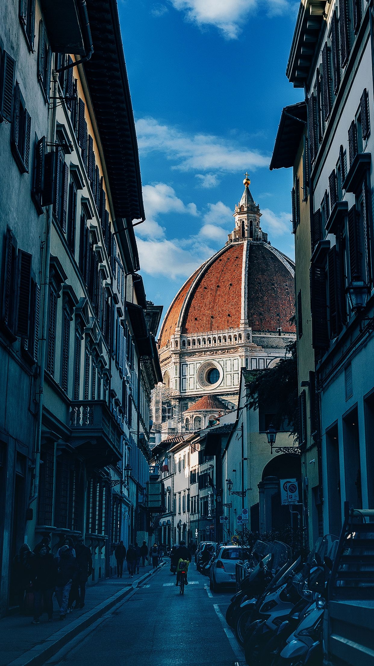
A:
[[[289,322],[295,303],[293,262],[273,248],[262,232],[260,208],[249,182],[244,181],[244,194],[234,212],[236,226],[228,242],[192,274],[168,309],[160,350],[208,342],[198,336],[226,333],[229,342],[230,331],[235,332],[230,342],[237,344],[244,342],[241,330],[243,334],[248,330],[257,335],[294,334]]]

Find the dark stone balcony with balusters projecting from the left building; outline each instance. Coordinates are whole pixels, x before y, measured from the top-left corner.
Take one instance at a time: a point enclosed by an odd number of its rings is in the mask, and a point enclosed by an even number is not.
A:
[[[70,408],[71,445],[93,464],[115,465],[122,458],[122,429],[104,400],[76,400]]]

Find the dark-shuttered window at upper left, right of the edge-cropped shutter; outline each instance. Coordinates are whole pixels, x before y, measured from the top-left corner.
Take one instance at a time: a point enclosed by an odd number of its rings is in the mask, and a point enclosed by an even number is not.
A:
[[[18,83],[15,84],[11,148],[21,173],[29,172],[31,116],[25,107]]]

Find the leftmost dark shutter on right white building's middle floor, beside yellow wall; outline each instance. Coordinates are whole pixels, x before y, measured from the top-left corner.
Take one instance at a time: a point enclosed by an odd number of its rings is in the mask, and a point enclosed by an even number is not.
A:
[[[311,264],[311,325],[313,348],[327,348],[329,332],[327,328],[326,274],[325,267],[316,264]]]

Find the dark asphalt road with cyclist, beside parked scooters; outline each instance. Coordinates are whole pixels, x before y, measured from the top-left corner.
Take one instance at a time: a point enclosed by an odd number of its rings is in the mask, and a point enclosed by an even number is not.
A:
[[[244,657],[224,615],[233,591],[209,590],[208,578],[188,573],[184,595],[168,561],[112,609],[77,645],[50,664],[76,666],[234,666]],[[148,583],[148,584],[147,584]],[[207,589],[208,588],[208,589]]]

